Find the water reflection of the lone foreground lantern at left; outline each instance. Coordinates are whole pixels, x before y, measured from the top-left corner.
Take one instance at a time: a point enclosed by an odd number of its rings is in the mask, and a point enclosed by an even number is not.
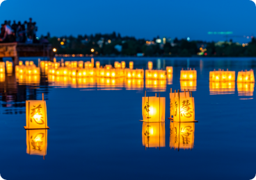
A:
[[[46,156],[47,129],[29,129],[26,131],[26,153],[30,155]]]

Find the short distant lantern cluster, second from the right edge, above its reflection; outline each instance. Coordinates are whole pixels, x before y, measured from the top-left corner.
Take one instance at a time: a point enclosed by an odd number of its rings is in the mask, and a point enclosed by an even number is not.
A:
[[[235,71],[210,71],[209,81],[219,82],[219,81],[235,81],[236,75]]]

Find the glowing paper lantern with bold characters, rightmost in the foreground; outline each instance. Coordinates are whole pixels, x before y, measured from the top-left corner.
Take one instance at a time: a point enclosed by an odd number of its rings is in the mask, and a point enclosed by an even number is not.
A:
[[[188,91],[189,92],[189,91]],[[197,122],[195,120],[195,102],[191,93],[170,93],[170,119],[176,122]],[[173,116],[173,118],[172,118]]]

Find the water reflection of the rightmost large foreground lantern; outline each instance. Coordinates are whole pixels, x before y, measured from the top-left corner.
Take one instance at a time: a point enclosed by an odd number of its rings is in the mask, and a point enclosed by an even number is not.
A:
[[[192,150],[195,140],[195,123],[170,123],[170,148]]]

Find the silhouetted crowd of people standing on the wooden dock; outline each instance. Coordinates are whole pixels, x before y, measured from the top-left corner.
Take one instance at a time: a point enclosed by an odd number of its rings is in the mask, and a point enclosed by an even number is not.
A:
[[[36,38],[37,31],[38,26],[35,22],[32,22],[32,18],[29,18],[29,22],[24,21],[24,24],[21,21],[18,21],[17,24],[16,21],[13,21],[13,24],[11,24],[11,21],[4,21],[4,24],[1,24],[0,43],[40,43],[39,39]],[[43,39],[43,41],[47,41],[47,39]]]

